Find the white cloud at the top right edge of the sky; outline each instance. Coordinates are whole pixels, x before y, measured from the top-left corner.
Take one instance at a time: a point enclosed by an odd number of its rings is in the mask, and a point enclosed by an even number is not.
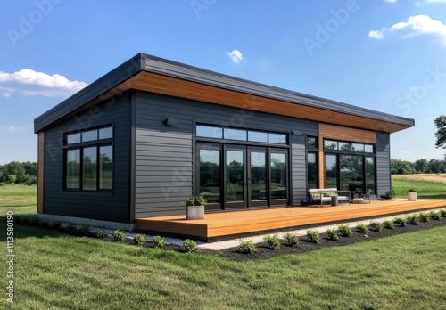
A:
[[[410,16],[407,21],[398,22],[392,25],[392,27],[383,28],[381,30],[372,30],[368,33],[368,37],[380,39],[384,37],[386,32],[393,32],[401,29],[407,29],[409,31],[409,34],[405,37],[427,33],[440,36],[443,38],[444,45],[446,45],[446,25],[444,25],[442,21],[431,19],[427,15]]]

